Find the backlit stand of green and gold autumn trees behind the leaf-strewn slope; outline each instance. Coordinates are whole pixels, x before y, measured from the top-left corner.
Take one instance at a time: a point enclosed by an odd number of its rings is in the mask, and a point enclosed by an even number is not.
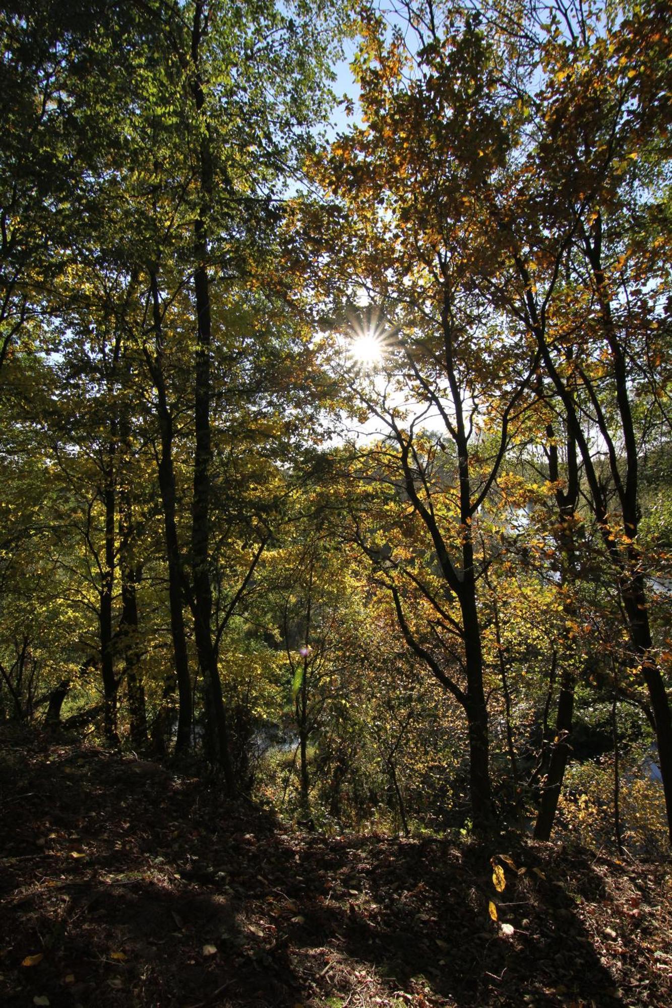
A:
[[[664,851],[667,5],[0,29],[0,721]]]

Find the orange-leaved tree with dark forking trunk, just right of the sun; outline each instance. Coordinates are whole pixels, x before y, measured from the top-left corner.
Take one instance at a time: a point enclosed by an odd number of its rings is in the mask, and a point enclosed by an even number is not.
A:
[[[329,240],[346,248],[347,268],[370,299],[368,325],[383,356],[386,384],[351,381],[386,429],[367,478],[379,469],[424,528],[441,592],[456,610],[448,612],[426,583],[420,591],[444,631],[461,642],[464,688],[418,640],[394,580],[389,588],[409,646],[465,711],[473,818],[482,826],[491,820],[491,797],[478,594],[488,559],[487,550],[478,556],[478,513],[525,410],[538,356],[523,335],[523,364],[516,366],[513,342],[497,342],[499,320],[488,317],[474,286],[474,273],[490,268],[491,251],[470,210],[483,184],[466,197],[464,177],[485,138],[499,144],[499,158],[508,141],[496,108],[471,120],[472,92],[488,94],[495,68],[472,19],[454,27],[427,41],[415,24],[412,48],[401,30],[387,42],[381,18],[367,15],[358,61],[366,125],[339,138],[316,175],[346,208],[348,223],[337,222],[344,237]],[[460,157],[451,160],[447,151],[458,141]],[[342,261],[338,268],[344,271]],[[359,318],[357,325],[367,324]],[[440,434],[423,430],[430,416]],[[494,436],[483,450],[486,429]]]

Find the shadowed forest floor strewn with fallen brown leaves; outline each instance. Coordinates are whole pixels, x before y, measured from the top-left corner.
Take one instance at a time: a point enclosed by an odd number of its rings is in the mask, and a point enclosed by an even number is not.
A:
[[[157,764],[0,734],[5,1008],[669,1006],[671,883],[520,839],[294,832]]]

